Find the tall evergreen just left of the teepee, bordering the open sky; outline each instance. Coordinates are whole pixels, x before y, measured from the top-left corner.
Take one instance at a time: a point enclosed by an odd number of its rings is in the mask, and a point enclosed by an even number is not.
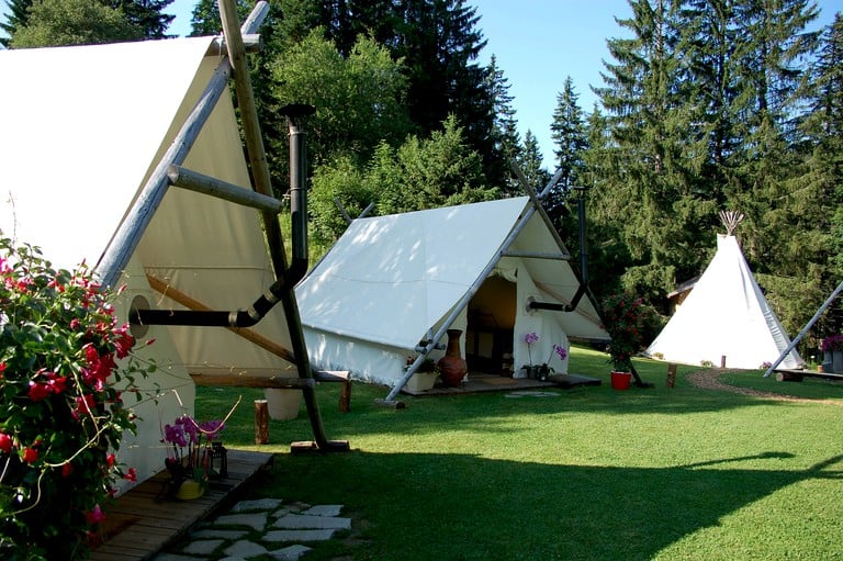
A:
[[[633,16],[618,23],[631,37],[608,42],[616,63],[606,64],[607,86],[596,90],[617,145],[607,170],[615,179],[602,186],[598,200],[616,209],[622,222],[615,227],[633,259],[626,270],[602,272],[622,276],[623,288],[648,301],[672,290],[677,276],[698,273],[701,248],[710,246],[699,233],[710,232],[717,216],[695,190],[701,160],[687,143],[693,113],[682,94],[679,3],[630,2]]]

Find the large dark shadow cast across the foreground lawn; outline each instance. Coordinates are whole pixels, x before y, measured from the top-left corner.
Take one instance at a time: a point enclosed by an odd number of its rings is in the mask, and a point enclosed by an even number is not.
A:
[[[280,456],[258,492],[344,503],[370,525],[349,552],[356,559],[638,560],[787,485],[843,475],[823,471],[843,456],[803,471],[724,467],[790,456],[653,469],[460,455]]]

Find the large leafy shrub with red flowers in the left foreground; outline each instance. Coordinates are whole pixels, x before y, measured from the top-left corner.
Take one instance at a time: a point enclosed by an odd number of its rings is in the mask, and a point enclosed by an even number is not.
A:
[[[114,452],[135,430],[134,344],[82,265],[54,270],[0,236],[0,558],[80,559],[120,479]],[[122,392],[115,388],[120,382]]]

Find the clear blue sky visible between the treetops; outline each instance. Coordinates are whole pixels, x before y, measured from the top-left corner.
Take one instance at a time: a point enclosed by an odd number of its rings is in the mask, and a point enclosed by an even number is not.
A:
[[[477,8],[477,26],[487,41],[481,64],[494,54],[509,81],[518,128],[539,141],[544,164],[553,166],[550,123],[557,96],[571,76],[580,106],[588,112],[595,97],[591,87],[603,85],[603,60],[609,60],[606,40],[622,35],[615,18],[631,14],[627,0],[470,0]],[[843,10],[841,0],[819,0],[817,27],[831,23]],[[175,0],[167,9],[177,19],[170,33],[187,35],[195,0]],[[5,0],[0,0],[4,20]]]

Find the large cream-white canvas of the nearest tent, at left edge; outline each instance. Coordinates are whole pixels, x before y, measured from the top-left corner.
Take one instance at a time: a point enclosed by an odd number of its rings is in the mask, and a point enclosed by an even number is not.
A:
[[[101,259],[120,249],[115,232],[220,72],[225,57],[216,43],[200,37],[0,52],[3,235],[40,246],[57,267],[86,260],[106,274]],[[223,93],[183,166],[251,192],[225,76]],[[153,212],[127,263],[116,271],[113,284],[127,287],[115,306],[121,323],[136,296],[162,310],[183,310],[184,296],[193,305],[237,310],[274,280],[258,211],[171,187]],[[290,348],[281,305],[252,332]],[[161,393],[157,403],[137,406],[138,435],[126,435],[120,450],[120,461],[136,468],[139,481],[164,467],[160,426],[193,414],[189,373],[293,369],[224,327],[148,326],[142,338],[155,343],[139,356],[159,367],[144,385],[160,386]]]

